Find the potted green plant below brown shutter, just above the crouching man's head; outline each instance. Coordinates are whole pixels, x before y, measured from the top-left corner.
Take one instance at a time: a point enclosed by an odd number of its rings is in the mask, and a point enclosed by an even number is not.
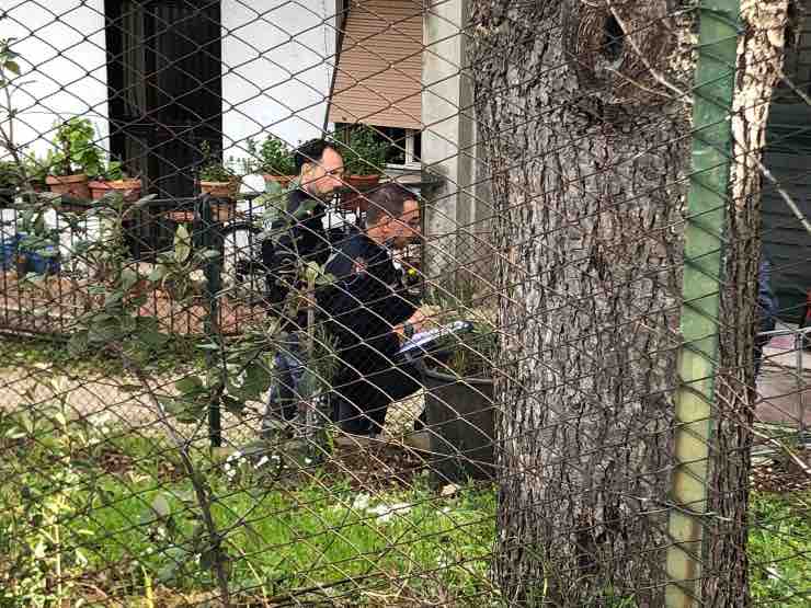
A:
[[[380,182],[390,145],[367,125],[358,125],[340,138],[344,159],[343,181],[353,191],[368,190]],[[346,193],[341,205],[349,209],[366,210],[368,203],[358,192]]]

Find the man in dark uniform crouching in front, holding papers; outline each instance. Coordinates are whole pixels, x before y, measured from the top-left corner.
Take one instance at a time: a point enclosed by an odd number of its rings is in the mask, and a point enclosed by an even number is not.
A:
[[[335,422],[346,433],[375,436],[389,403],[419,389],[392,362],[400,348],[398,326],[420,322],[392,253],[419,237],[420,215],[416,197],[398,184],[365,197],[367,230],[334,249],[325,268],[334,280],[319,292],[318,305],[341,362],[332,379]]]

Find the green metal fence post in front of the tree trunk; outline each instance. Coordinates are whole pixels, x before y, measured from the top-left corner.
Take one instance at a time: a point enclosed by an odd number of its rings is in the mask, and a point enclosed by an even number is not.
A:
[[[730,180],[739,0],[704,0],[693,107],[684,245],[683,346],[675,397],[675,460],[666,606],[700,605],[701,553],[718,360],[722,246]]]

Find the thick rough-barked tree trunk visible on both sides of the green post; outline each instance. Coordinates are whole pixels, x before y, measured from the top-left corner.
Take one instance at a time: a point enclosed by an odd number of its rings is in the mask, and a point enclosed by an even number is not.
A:
[[[776,30],[758,33],[757,13],[779,23],[786,2],[745,2],[754,21],[740,65],[756,76],[739,78],[738,96],[756,88],[758,105],[756,116],[736,105],[746,150],[763,142],[770,95],[758,59],[781,50]],[[632,596],[662,606],[697,2],[471,4],[507,336],[496,576],[511,605]],[[723,581],[711,575],[705,585],[717,606],[745,596],[733,598],[731,578],[745,589],[749,462],[731,455],[750,441],[758,205],[751,169],[734,173],[724,259],[724,422],[710,509],[728,519],[710,530],[712,572]]]

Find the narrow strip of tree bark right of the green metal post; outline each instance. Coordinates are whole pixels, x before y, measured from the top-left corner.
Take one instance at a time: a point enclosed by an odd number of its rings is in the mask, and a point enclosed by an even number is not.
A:
[[[754,334],[761,252],[761,161],[769,101],[783,70],[789,0],[743,0],[732,103],[731,197],[721,289],[715,445],[704,530],[704,606],[750,605],[746,559]]]

